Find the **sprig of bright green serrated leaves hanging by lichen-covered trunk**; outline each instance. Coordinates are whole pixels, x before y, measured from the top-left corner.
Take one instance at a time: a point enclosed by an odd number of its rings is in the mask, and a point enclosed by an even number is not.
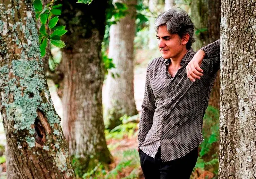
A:
[[[61,14],[60,8],[62,4],[54,5],[54,1],[51,1],[43,7],[41,0],[35,0],[33,6],[36,12],[36,19],[40,18],[40,22],[42,23],[38,35],[41,57],[46,53],[48,40],[56,47],[65,47],[65,43],[60,40],[60,37],[64,35],[67,30],[64,30],[65,26],[55,27],[59,18],[57,16],[53,17],[54,15]]]

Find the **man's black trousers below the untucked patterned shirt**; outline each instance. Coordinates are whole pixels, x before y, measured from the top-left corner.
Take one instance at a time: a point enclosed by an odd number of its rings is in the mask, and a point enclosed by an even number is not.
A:
[[[139,150],[141,168],[145,179],[189,179],[198,157],[198,147],[184,157],[162,162],[161,149],[155,159]]]

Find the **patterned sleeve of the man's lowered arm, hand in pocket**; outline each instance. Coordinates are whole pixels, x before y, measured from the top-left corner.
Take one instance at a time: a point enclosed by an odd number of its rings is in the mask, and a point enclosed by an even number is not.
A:
[[[138,134],[138,142],[139,142],[139,147],[142,145],[144,142],[150,128],[152,127],[153,124],[153,116],[155,113],[155,96],[153,94],[153,91],[150,87],[149,83],[149,66],[147,67],[147,74],[146,74],[146,84],[145,84],[145,93],[144,93],[144,98],[143,102],[141,105],[141,118],[139,122],[139,134]]]

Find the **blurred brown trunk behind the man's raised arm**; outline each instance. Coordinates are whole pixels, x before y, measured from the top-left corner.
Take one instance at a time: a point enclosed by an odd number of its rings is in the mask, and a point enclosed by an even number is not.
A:
[[[194,50],[214,42],[220,37],[220,0],[193,0],[190,4],[191,19],[196,27],[197,40]],[[218,72],[211,92],[209,105],[219,109],[220,72]]]

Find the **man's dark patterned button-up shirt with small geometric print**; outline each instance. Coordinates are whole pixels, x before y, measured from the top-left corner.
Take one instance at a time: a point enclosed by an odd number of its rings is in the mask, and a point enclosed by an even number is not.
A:
[[[172,77],[170,59],[149,62],[139,124],[139,148],[155,157],[161,145],[162,161],[185,156],[203,141],[202,119],[220,68],[220,41],[201,48],[203,76],[195,82],[187,77],[186,66],[195,55],[191,48]]]

